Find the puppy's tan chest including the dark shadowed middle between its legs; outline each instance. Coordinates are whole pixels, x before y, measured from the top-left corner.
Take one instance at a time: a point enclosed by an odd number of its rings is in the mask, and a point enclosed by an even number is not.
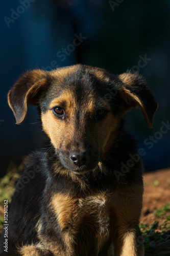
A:
[[[85,243],[86,249],[95,253],[103,248],[110,236],[110,210],[105,194],[80,199],[56,195],[52,203],[64,236],[69,233],[71,241],[82,244],[82,248]]]

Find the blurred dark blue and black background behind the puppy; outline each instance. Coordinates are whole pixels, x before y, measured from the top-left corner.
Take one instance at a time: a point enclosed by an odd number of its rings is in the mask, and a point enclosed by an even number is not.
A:
[[[18,165],[40,148],[43,136],[34,107],[15,124],[7,104],[12,84],[26,70],[75,63],[115,74],[132,69],[147,78],[159,103],[154,129],[136,109],[127,114],[126,128],[144,148],[147,170],[170,166],[170,131],[160,133],[170,119],[170,1],[2,0],[0,13],[1,175],[11,161]],[[75,37],[78,46],[72,46]]]

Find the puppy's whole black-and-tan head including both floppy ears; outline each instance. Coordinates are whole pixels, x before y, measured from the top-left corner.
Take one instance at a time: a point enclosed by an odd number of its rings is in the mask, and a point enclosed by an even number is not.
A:
[[[126,111],[139,106],[152,127],[158,107],[139,74],[112,75],[83,65],[26,72],[9,91],[8,102],[17,124],[25,120],[28,104],[38,106],[60,162],[79,174],[107,156]]]

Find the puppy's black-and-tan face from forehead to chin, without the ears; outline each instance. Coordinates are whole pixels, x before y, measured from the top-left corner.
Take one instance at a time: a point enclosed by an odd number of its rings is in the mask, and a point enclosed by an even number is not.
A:
[[[57,70],[53,77],[40,103],[43,130],[65,168],[87,172],[104,158],[108,141],[113,141],[114,100],[107,98],[106,82],[85,70],[71,68],[62,75]]]

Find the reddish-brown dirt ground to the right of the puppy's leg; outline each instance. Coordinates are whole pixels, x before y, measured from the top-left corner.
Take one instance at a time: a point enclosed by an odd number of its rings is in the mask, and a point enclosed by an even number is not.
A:
[[[151,227],[153,223],[159,222],[156,232],[162,233],[164,223],[169,226],[168,210],[157,211],[157,208],[164,207],[170,203],[170,169],[157,170],[152,173],[145,173],[143,208],[140,222]],[[169,206],[168,206],[169,207]],[[170,255],[170,232],[163,232],[163,239],[154,243],[149,254],[152,256]],[[167,235],[166,235],[167,234]]]

